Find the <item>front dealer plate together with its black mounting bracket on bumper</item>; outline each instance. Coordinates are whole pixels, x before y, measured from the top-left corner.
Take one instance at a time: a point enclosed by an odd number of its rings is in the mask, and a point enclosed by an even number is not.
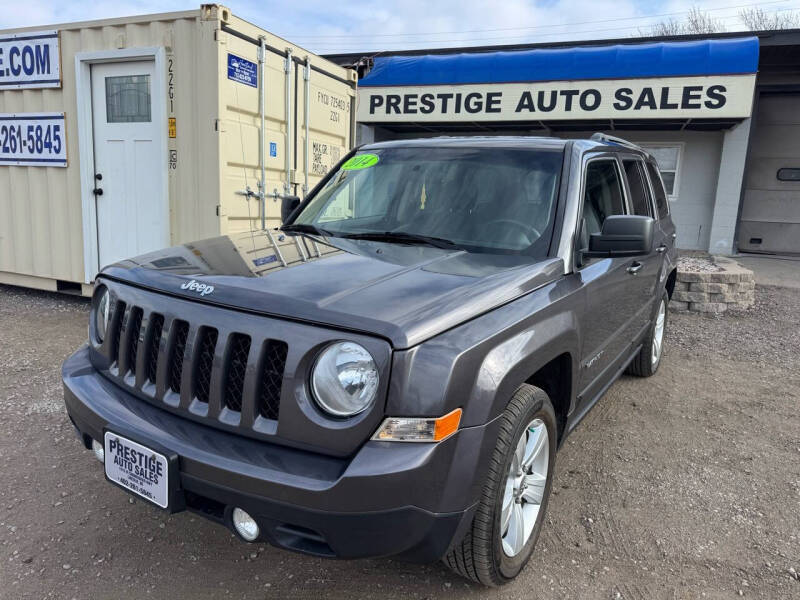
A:
[[[136,474],[130,470],[130,461],[129,464],[122,466],[120,464],[114,464],[113,459],[116,455],[116,448],[110,448],[110,442],[114,440],[117,444],[122,444],[123,447],[127,447],[129,450],[133,450],[135,452],[141,452],[144,455],[142,459],[145,461],[143,465],[144,473],[148,473],[152,476],[153,470],[147,468],[148,466],[154,466],[156,463],[149,461],[147,459],[154,459],[157,461],[158,464],[161,464],[161,477],[163,478],[163,485],[160,483],[156,486],[148,486],[147,485],[147,478],[142,477],[141,474]],[[149,441],[139,441],[137,436],[132,436],[129,433],[121,433],[116,430],[104,429],[103,430],[103,449],[104,449],[104,460],[103,460],[103,473],[107,481],[111,482],[115,486],[125,490],[129,494],[141,498],[145,500],[148,504],[156,506],[161,510],[167,512],[178,512],[183,510],[185,507],[185,501],[183,498],[183,494],[179,489],[179,472],[178,472],[178,456],[174,452],[170,452],[169,450],[161,447],[158,444],[154,444]],[[136,457],[136,455],[134,455]],[[138,457],[137,457],[138,458]],[[122,461],[123,464],[125,461]],[[146,464],[149,462],[149,465]],[[109,465],[111,465],[111,472],[109,472]],[[132,475],[131,479],[122,478],[120,477],[120,472],[128,473]],[[141,471],[140,471],[141,473]],[[154,493],[157,492],[157,493]]]

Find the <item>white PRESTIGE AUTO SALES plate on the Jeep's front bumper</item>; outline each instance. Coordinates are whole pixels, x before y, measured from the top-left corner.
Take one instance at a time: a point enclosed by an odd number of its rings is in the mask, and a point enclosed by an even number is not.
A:
[[[169,504],[167,457],[106,431],[106,477],[161,508]]]

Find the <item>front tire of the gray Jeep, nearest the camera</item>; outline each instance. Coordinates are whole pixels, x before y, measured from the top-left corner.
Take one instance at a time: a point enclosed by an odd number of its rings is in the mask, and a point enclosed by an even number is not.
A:
[[[531,426],[530,428],[528,426]],[[547,432],[547,439],[541,440],[539,444],[536,443],[538,436],[541,436],[539,427],[544,425]],[[520,445],[522,436],[525,437],[525,444]],[[497,445],[492,453],[489,472],[487,475],[486,483],[483,486],[481,498],[478,503],[478,508],[475,512],[472,525],[467,531],[464,539],[453,545],[451,550],[443,558],[444,563],[453,571],[486,586],[496,587],[508,583],[513,580],[527,564],[528,560],[533,554],[536,540],[539,537],[539,532],[544,522],[544,515],[547,510],[547,501],[550,497],[550,490],[553,485],[553,468],[555,466],[556,454],[556,419],[553,411],[553,406],[550,403],[550,398],[541,389],[532,385],[522,385],[517,389],[508,403],[505,411],[500,417],[500,433],[497,439]],[[530,446],[529,446],[530,444]],[[523,497],[527,497],[528,493],[535,495],[541,493],[540,504],[538,513],[532,512],[535,509],[535,501],[528,505],[525,500],[520,498],[521,502],[516,501],[516,494],[518,488],[513,487],[512,496],[515,498],[510,504],[508,514],[508,525],[506,525],[507,535],[503,536],[501,529],[501,518],[504,516],[503,505],[504,499],[507,500],[509,491],[507,486],[511,481],[511,470],[514,473],[520,472],[516,469],[518,459],[515,456],[518,452],[518,446],[523,448],[527,455],[529,448],[530,454],[535,455],[536,460],[533,461],[534,465],[539,465],[539,471],[546,464],[547,474],[542,479],[541,474],[537,475],[534,471],[527,477],[537,477],[536,483],[526,487],[521,484],[519,493]],[[547,449],[547,456],[543,457],[541,453],[544,448]],[[537,454],[539,452],[539,454]],[[515,460],[517,462],[515,462]],[[533,471],[533,467],[531,467]],[[541,481],[544,480],[544,486],[541,486]],[[520,481],[527,481],[526,477],[521,477]],[[531,480],[533,481],[533,480]],[[531,490],[531,492],[528,492]],[[523,493],[525,492],[525,493]],[[513,512],[519,505],[519,513]],[[506,502],[506,506],[509,503]],[[528,519],[523,522],[534,522],[533,528],[529,534],[530,537],[519,547],[518,552],[509,556],[506,552],[504,543],[509,543],[509,537],[512,536],[511,524],[516,523],[515,515],[523,513],[524,506],[526,514],[536,516],[535,521]],[[524,527],[515,529],[516,531],[524,531]],[[524,540],[524,535],[521,536]],[[506,540],[504,542],[504,540]],[[511,540],[512,542],[514,540]]]

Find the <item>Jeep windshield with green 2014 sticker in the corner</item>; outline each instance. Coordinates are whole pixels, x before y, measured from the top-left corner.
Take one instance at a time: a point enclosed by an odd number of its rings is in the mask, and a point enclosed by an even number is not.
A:
[[[391,147],[343,163],[287,231],[545,256],[563,151]]]

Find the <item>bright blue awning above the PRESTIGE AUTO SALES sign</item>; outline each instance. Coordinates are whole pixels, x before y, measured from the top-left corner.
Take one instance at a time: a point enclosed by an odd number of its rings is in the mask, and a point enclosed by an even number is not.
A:
[[[742,75],[758,70],[758,38],[378,56],[359,86],[522,83]]]

